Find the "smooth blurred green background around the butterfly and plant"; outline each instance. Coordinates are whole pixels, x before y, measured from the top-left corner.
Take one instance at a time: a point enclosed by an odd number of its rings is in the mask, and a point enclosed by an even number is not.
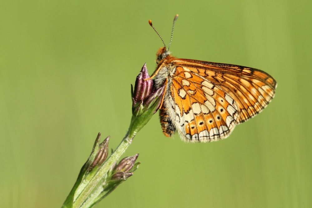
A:
[[[230,138],[186,144],[158,115],[124,156],[134,176],[96,207],[311,207],[311,1],[2,1],[0,207],[60,207],[100,131],[115,148],[130,84],[162,43],[180,58],[245,65],[275,99]],[[310,136],[309,136],[310,135]]]

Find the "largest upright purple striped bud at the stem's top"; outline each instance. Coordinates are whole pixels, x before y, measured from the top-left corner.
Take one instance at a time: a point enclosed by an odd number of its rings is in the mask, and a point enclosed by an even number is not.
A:
[[[133,92],[133,106],[139,101],[144,100],[152,91],[153,80],[145,80],[149,78],[149,73],[146,68],[146,63],[143,65],[140,74],[137,76]]]

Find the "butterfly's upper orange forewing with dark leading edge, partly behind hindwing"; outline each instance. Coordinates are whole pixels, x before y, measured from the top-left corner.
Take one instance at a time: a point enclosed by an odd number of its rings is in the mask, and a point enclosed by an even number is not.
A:
[[[264,71],[188,59],[176,59],[173,62],[227,92],[237,105],[239,123],[260,113],[274,98],[277,83]]]

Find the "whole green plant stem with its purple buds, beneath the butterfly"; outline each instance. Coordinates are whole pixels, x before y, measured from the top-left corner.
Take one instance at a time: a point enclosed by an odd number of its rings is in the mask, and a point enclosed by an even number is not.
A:
[[[132,118],[127,134],[107,159],[108,146],[105,145],[108,145],[109,137],[103,141],[106,141],[105,143],[100,143],[100,133],[98,134],[90,157],[81,168],[76,183],[67,196],[62,208],[90,208],[112,192],[122,181],[132,176],[133,173],[128,172],[130,170],[116,172],[115,165],[131,144],[136,133],[149,122],[160,107],[165,86],[155,89],[152,92],[154,81],[148,78],[150,77],[144,64],[140,74],[137,76],[134,91],[131,87]],[[131,166],[129,168],[133,168],[136,165],[134,170],[137,169],[139,162],[134,164],[137,157],[138,154],[127,157],[134,159],[132,161],[133,163],[130,163]],[[119,162],[117,168],[119,165],[123,165],[122,162],[123,160]]]

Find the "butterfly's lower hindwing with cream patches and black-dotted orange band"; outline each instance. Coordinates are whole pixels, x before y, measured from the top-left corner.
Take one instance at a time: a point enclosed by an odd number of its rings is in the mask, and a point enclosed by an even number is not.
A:
[[[184,141],[226,138],[238,123],[238,108],[231,96],[187,67],[176,67],[168,88],[167,112]]]

